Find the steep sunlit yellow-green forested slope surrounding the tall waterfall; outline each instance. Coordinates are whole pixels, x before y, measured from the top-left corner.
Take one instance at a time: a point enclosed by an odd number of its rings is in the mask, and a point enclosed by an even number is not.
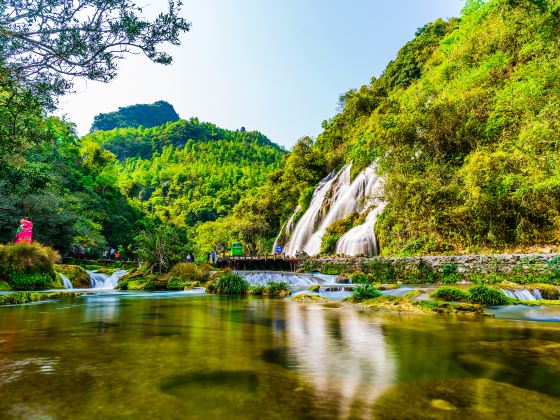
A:
[[[221,223],[262,221],[270,241],[318,179],[377,159],[389,202],[376,229],[385,255],[560,239],[557,0],[467,1],[460,18],[420,28],[341,106],[312,146],[301,143],[234,210],[241,220]]]

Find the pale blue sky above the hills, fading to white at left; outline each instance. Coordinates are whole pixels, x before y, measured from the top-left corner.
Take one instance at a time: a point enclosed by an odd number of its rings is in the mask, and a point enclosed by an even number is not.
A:
[[[138,3],[142,3],[139,1]],[[145,0],[147,13],[165,0]],[[94,115],[166,100],[182,118],[259,130],[290,148],[316,136],[338,97],[379,76],[416,29],[458,16],[463,0],[184,0],[192,22],[171,66],[131,56],[109,84],[62,98],[80,134]],[[144,5],[144,3],[142,3]]]

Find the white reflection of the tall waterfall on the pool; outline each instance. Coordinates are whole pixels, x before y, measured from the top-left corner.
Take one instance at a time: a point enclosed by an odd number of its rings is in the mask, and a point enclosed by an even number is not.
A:
[[[383,328],[353,310],[288,305],[288,342],[317,399],[336,399],[338,415],[369,407],[396,379],[396,358]]]

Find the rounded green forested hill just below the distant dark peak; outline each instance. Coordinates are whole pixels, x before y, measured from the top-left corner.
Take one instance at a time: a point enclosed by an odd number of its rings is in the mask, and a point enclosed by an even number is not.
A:
[[[245,191],[280,166],[285,153],[258,132],[224,130],[196,118],[98,131],[82,143],[114,153],[121,191],[138,208],[177,226],[227,215]]]

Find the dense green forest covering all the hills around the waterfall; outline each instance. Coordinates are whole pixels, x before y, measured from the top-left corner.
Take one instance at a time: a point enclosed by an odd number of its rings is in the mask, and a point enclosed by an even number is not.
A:
[[[559,35],[557,0],[469,0],[341,95],[323,132],[289,154],[258,132],[178,120],[165,102],[102,114],[79,139],[48,117],[38,85],[0,66],[0,240],[13,238],[23,212],[37,239],[59,249],[131,249],[140,230],[166,225],[197,254],[233,241],[268,251],[325,175],[377,161],[384,255],[556,243]]]

